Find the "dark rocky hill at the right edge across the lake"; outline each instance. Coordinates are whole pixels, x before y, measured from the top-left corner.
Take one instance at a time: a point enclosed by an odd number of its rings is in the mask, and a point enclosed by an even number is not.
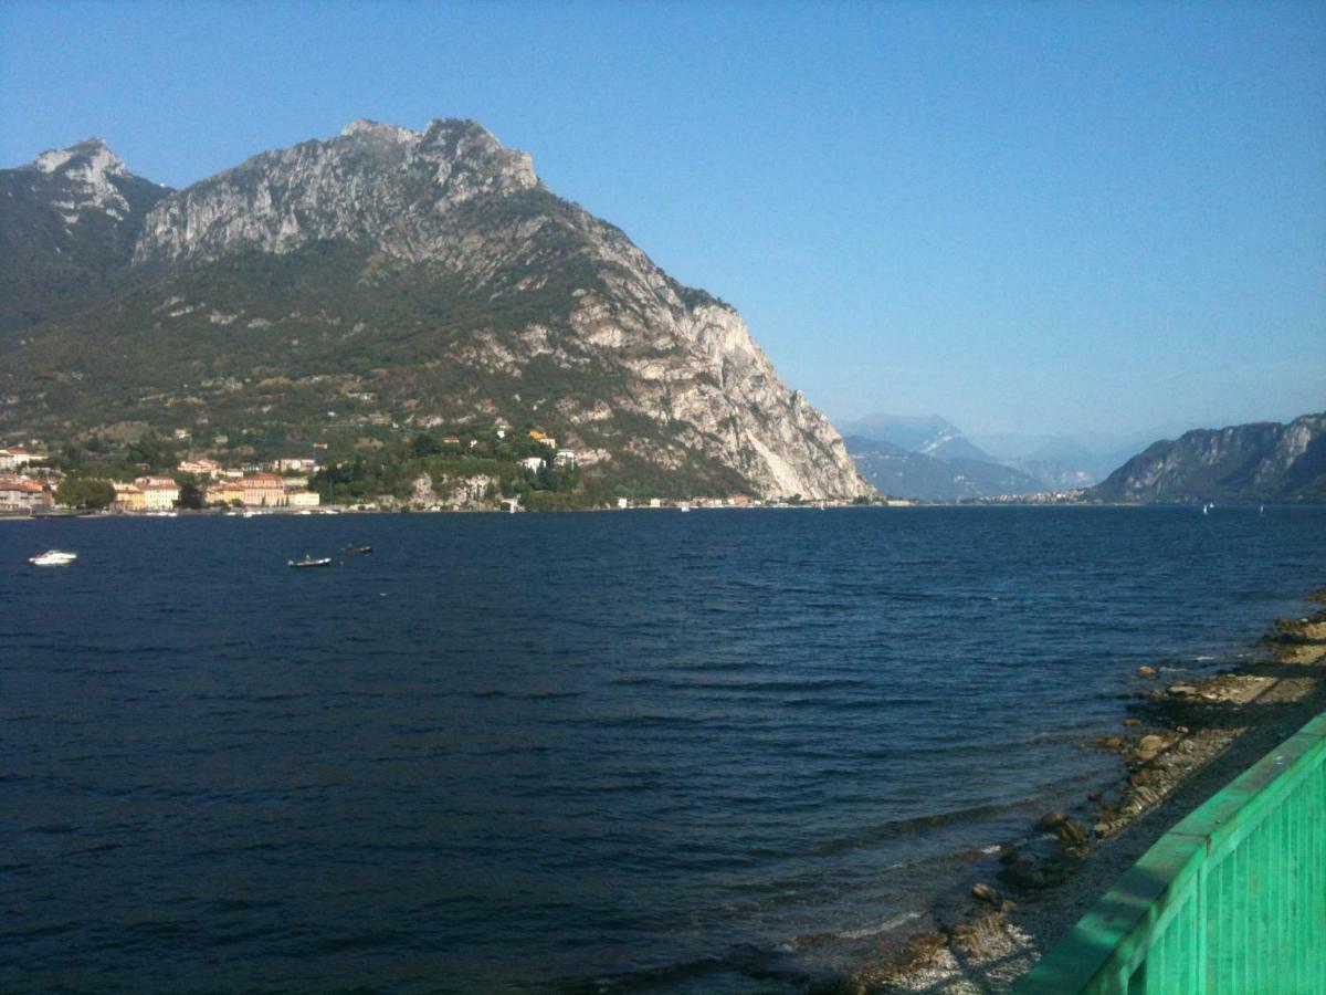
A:
[[[1326,414],[1158,442],[1087,492],[1105,501],[1323,501]]]

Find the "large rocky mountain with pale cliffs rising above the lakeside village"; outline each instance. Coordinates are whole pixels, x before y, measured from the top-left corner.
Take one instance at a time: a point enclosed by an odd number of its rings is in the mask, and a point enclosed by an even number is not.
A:
[[[505,423],[575,448],[601,488],[870,492],[733,308],[476,122],[357,121],[180,191],[99,142],[3,182],[0,269],[32,261],[5,305],[0,434],[363,447]]]

